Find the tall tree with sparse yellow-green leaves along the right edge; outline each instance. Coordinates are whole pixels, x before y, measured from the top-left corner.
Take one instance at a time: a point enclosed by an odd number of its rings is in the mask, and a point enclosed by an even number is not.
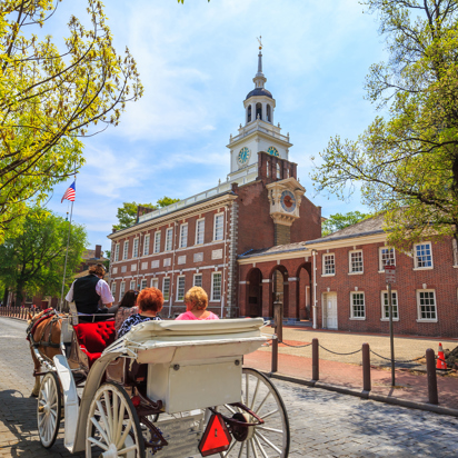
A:
[[[458,233],[458,2],[367,0],[389,60],[371,66],[367,97],[378,116],[356,140],[331,138],[312,179],[318,191],[386,211],[388,239],[409,249]]]

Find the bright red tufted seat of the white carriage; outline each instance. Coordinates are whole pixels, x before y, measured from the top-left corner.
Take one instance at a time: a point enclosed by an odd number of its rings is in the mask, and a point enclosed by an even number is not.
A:
[[[88,356],[89,368],[116,340],[114,321],[81,322],[73,328],[81,351]]]

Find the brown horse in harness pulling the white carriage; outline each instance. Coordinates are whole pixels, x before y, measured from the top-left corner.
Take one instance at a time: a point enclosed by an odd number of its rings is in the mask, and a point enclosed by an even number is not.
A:
[[[29,312],[27,340],[30,342],[30,351],[33,359],[33,377],[34,387],[31,396],[38,397],[40,392],[40,368],[41,364],[38,360],[33,349],[36,348],[41,357],[51,362],[56,355],[61,355],[60,349],[60,332],[62,329],[62,317],[54,309],[50,308],[41,311],[34,317]]]

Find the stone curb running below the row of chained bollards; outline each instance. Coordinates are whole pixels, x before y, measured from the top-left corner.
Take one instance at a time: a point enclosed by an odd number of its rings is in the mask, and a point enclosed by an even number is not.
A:
[[[278,372],[276,374],[262,372],[262,374],[269,378],[275,378],[275,379],[283,380],[283,381],[290,381],[297,385],[305,385],[311,388],[327,389],[329,391],[336,391],[342,395],[356,396],[361,399],[370,399],[377,402],[392,404],[395,406],[408,407],[410,409],[426,410],[426,411],[430,411],[430,412],[435,412],[439,415],[449,415],[451,417],[458,417],[458,409],[450,409],[449,407],[435,406],[432,404],[427,404],[427,402],[409,401],[407,399],[392,398],[390,396],[385,396],[385,395],[374,395],[370,391],[365,391],[365,390],[359,391],[354,388],[323,384],[322,381],[319,381],[319,380],[305,380],[301,378],[287,376],[285,374],[278,374]]]

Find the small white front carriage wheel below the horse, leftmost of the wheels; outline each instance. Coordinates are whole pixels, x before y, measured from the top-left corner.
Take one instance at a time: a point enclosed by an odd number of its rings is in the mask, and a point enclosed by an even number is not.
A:
[[[48,372],[41,380],[37,406],[38,435],[44,448],[52,447],[59,432],[61,399],[59,378]]]

